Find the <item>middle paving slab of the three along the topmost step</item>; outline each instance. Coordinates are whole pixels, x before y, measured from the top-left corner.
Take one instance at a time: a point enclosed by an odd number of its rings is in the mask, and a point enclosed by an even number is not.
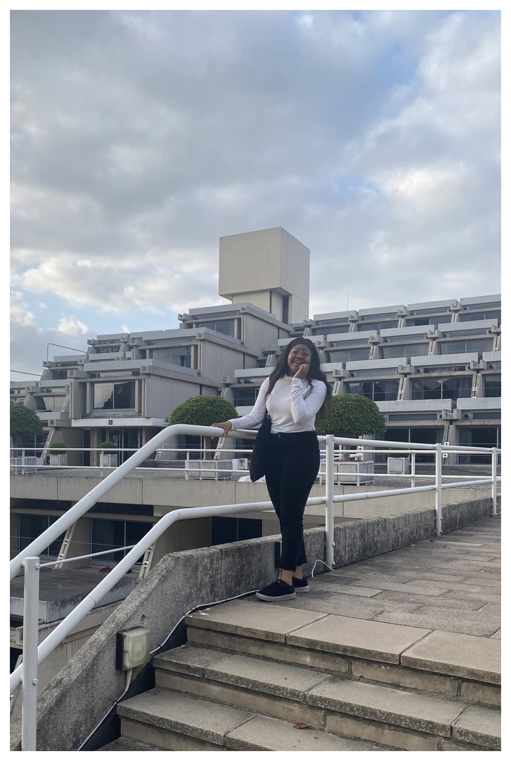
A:
[[[302,648],[397,664],[404,650],[429,633],[430,629],[414,626],[330,615],[287,635],[286,642]]]

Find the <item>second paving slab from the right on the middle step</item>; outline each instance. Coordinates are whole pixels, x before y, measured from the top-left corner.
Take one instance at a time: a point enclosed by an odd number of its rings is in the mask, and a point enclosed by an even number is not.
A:
[[[449,737],[465,703],[403,689],[332,678],[310,690],[310,705]]]

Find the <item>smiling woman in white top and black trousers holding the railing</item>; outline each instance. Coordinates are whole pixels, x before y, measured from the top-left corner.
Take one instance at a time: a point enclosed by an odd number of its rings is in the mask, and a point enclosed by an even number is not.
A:
[[[214,424],[227,435],[238,428],[254,428],[266,411],[272,421],[266,484],[282,534],[281,571],[276,581],[256,593],[260,600],[290,600],[296,592],[309,591],[302,573],[307,562],[303,513],[319,470],[315,419],[324,416],[331,395],[315,345],[295,338],[263,381],[254,409],[241,418]]]

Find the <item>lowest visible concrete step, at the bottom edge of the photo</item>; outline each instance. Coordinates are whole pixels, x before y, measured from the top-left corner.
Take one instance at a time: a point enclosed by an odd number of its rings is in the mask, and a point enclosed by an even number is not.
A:
[[[124,738],[157,750],[387,750],[170,690],[149,690],[117,712]]]

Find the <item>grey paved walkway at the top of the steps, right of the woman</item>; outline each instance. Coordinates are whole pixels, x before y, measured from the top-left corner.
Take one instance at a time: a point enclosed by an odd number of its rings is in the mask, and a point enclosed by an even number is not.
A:
[[[497,639],[500,568],[491,564],[499,560],[500,517],[488,517],[445,536],[309,578],[311,592],[295,600],[254,604]],[[327,610],[336,599],[338,610]]]

